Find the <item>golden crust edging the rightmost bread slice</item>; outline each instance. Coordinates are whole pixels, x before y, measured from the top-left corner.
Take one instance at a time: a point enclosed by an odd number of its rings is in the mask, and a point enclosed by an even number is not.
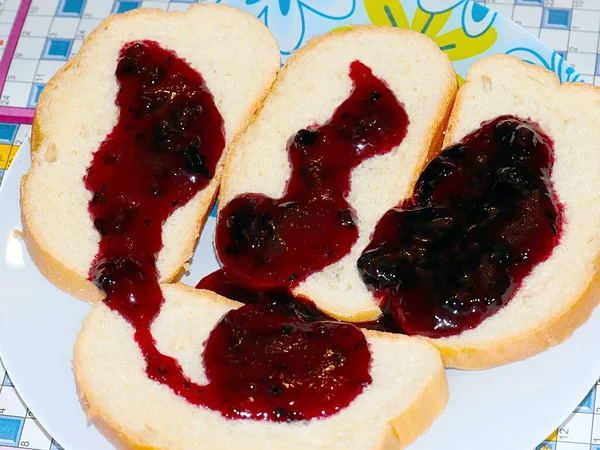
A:
[[[553,89],[586,90],[590,93],[593,92],[595,95],[600,94],[600,89],[596,86],[583,83],[560,84],[557,75],[553,72],[522,62],[515,56],[493,55],[481,59],[472,67],[475,68],[478,64],[483,64],[491,58],[506,64],[518,62],[527,67],[527,70],[533,73],[534,76],[547,81]],[[471,79],[467,75],[465,86],[470,81]],[[448,147],[457,141],[454,135],[460,121],[459,111],[462,109],[463,103],[469,101],[465,96],[465,90],[459,90],[448,122],[444,147]],[[588,284],[583,286],[580,293],[571,299],[568,307],[553,317],[544,318],[535,327],[520,330],[510,336],[502,336],[501,338],[476,344],[455,342],[452,338],[422,339],[434,345],[440,351],[444,365],[451,368],[483,370],[526,359],[562,343],[589,319],[600,303],[599,272],[600,255],[597,255],[594,261],[595,275],[589,280]],[[508,307],[510,307],[510,303],[506,306],[506,308]]]

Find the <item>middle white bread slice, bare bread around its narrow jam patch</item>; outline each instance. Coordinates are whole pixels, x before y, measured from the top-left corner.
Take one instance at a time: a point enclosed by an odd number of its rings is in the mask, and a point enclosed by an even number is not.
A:
[[[380,309],[356,261],[379,218],[412,193],[428,158],[440,150],[457,89],[454,69],[433,41],[409,30],[365,25],[309,42],[288,60],[256,120],[234,146],[219,204],[243,193],[281,197],[290,176],[288,139],[300,129],[324,123],[349,96],[354,60],[389,85],[410,125],[399,147],[364,161],[351,173],[347,200],[358,219],[359,237],[350,253],[309,276],[294,294],[333,317],[362,322],[375,320]]]

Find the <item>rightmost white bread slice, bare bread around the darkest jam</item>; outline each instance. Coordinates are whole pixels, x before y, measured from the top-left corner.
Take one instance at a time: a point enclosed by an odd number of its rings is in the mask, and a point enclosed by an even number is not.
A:
[[[554,141],[552,183],[564,206],[563,234],[508,305],[472,330],[430,340],[450,367],[484,369],[557,345],[600,300],[600,89],[561,85],[554,73],[515,57],[484,58],[458,93],[445,145],[503,114],[537,122]]]

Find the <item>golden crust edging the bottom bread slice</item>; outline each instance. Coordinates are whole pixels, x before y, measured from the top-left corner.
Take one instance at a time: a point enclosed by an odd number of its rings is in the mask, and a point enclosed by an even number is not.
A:
[[[229,308],[239,308],[241,303],[234,302],[225,297],[222,297],[212,291],[197,290],[185,284],[173,285],[177,289],[193,293],[194,295],[202,295],[202,301],[224,304]],[[85,322],[91,320],[88,315],[84,319],[82,333],[85,333]],[[415,339],[403,335],[382,333],[379,331],[363,330],[368,336],[384,336],[386,339]],[[116,423],[110,417],[107,411],[104,411],[99,402],[96,401],[93,390],[87,387],[87,381],[81,373],[81,367],[85,355],[79,348],[77,340],[74,347],[73,366],[75,371],[75,380],[77,381],[77,392],[80,402],[86,417],[89,421],[102,432],[102,434],[118,449],[123,450],[174,450],[172,448],[162,449],[153,447],[144,443],[144,437],[141,435],[128,434],[125,427]],[[435,351],[434,349],[431,349]],[[87,394],[92,393],[92,394]],[[173,394],[175,395],[175,394]],[[442,412],[448,402],[448,382],[446,372],[442,364],[439,365],[436,373],[432,376],[431,381],[420,392],[418,397],[404,411],[400,412],[396,417],[392,418],[388,424],[389,427],[382,430],[381,439],[370,449],[365,450],[400,450],[414,442],[421,434],[423,434],[435,421],[437,416]],[[179,447],[177,447],[179,448]]]

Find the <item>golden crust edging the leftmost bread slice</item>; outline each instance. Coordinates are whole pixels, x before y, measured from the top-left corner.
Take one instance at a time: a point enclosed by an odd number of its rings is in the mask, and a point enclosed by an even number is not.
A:
[[[196,8],[204,8],[204,9],[228,9],[230,13],[233,14],[245,14],[245,13],[237,8],[233,8],[227,5],[216,5],[216,4],[199,4],[192,5],[190,7],[190,11]],[[76,71],[82,61],[85,61],[86,58],[86,43],[95,40],[98,38],[102,38],[102,33],[110,26],[113,21],[127,20],[130,17],[136,15],[156,15],[159,17],[165,17],[167,15],[172,14],[186,14],[186,13],[178,13],[178,12],[165,12],[160,9],[135,9],[132,11],[128,11],[122,14],[113,14],[110,15],[107,19],[105,19],[98,27],[96,27],[92,33],[85,39],[81,50],[77,53],[77,55],[68,61],[61,69],[50,79],[43,92],[40,95],[40,99],[38,102],[38,107],[36,109],[34,119],[33,119],[33,128],[32,128],[32,136],[31,136],[31,162],[32,165],[38,164],[40,158],[43,158],[41,155],[42,144],[47,140],[46,133],[44,132],[44,124],[48,122],[47,109],[48,103],[50,103],[50,99],[55,94],[56,86],[63,82],[63,78],[65,74],[70,71]],[[256,19],[257,20],[257,19]],[[242,133],[249,125],[254,116],[257,108],[262,103],[263,98],[268,94],[271,84],[275,79],[277,71],[274,72],[273,78],[265,85],[260,94],[257,96],[257,101],[248,108],[248,112],[244,119],[240,122],[237,129],[231,131],[231,136],[237,136]],[[232,141],[233,142],[233,141]],[[210,212],[210,208],[214,204],[214,201],[217,197],[217,192],[219,190],[221,174],[223,171],[224,161],[227,158],[227,153],[229,152],[229,148],[232,145],[232,142],[229,143],[223,149],[223,155],[217,166],[217,170],[215,171],[215,176],[210,181],[208,186],[204,188],[201,192],[196,194],[197,196],[203,196],[203,200],[198,205],[198,208],[195,211],[195,216],[198,220],[195,222],[194,228],[190,231],[186,230],[187,236],[184,239],[181,239],[179,245],[182,247],[182,263],[179,267],[173,268],[171,273],[165,274],[161,278],[161,282],[163,283],[171,283],[178,281],[181,276],[185,272],[184,265],[192,258],[194,254],[194,250],[198,243],[198,239],[200,237],[201,230],[203,229],[206,220],[208,218],[208,213]],[[57,258],[55,255],[50,253],[44,247],[43,243],[39,239],[39,233],[35,229],[35,225],[31,220],[32,213],[28,205],[28,183],[31,175],[31,171],[23,176],[21,179],[21,218],[23,223],[23,240],[29,254],[31,256],[32,261],[36,265],[36,267],[40,270],[42,275],[48,279],[52,284],[54,284],[59,289],[71,294],[72,296],[84,300],[90,304],[97,303],[98,301],[104,298],[104,294],[95,286],[93,282],[88,279],[87,273],[82,273],[81,270],[77,270],[73,267],[68,267],[63,261]],[[192,199],[193,201],[193,199]]]

